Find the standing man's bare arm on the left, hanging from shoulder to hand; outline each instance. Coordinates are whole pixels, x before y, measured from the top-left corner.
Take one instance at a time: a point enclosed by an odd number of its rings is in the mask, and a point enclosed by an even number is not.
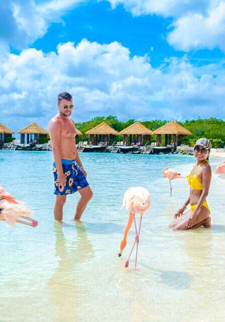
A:
[[[61,163],[62,157],[61,157],[61,151],[60,151],[60,133],[61,133],[60,122],[58,122],[57,120],[56,121],[51,120],[48,124],[48,133],[50,135],[53,157],[58,171],[58,188],[61,191],[63,190],[63,187],[66,183],[66,178],[63,173],[62,163]]]

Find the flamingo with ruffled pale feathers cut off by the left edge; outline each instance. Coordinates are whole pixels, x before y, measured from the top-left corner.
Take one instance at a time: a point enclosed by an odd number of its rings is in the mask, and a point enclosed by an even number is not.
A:
[[[33,212],[17,201],[0,185],[0,221],[6,220],[8,225],[15,227],[16,222],[37,227],[38,221],[30,218]],[[21,218],[25,220],[21,220]]]

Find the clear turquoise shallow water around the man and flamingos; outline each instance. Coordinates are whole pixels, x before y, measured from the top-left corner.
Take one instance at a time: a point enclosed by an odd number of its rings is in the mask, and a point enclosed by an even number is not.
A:
[[[39,225],[10,229],[0,222],[0,321],[221,321],[224,302],[224,187],[213,174],[208,204],[212,229],[173,232],[173,214],[186,200],[185,179],[195,160],[185,156],[81,154],[94,197],[82,223],[72,218],[79,195],[67,198],[63,225],[53,220],[51,152],[0,151],[0,184],[35,211]],[[220,159],[212,159],[214,171]],[[144,186],[138,269],[124,262],[134,239],[117,252],[128,213],[124,191]],[[133,258],[130,268],[134,266]]]

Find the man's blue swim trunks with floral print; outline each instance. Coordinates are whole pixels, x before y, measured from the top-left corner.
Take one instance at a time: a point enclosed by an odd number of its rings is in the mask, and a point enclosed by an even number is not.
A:
[[[52,172],[54,175],[54,194],[55,195],[70,195],[73,194],[73,192],[76,192],[80,189],[83,189],[87,186],[89,186],[88,181],[86,180],[86,177],[84,176],[83,172],[77,165],[77,163],[74,160],[66,160],[62,159],[62,169],[63,173],[66,176],[66,184],[63,188],[63,191],[59,191],[58,189],[58,171],[55,165],[55,162],[53,163]]]

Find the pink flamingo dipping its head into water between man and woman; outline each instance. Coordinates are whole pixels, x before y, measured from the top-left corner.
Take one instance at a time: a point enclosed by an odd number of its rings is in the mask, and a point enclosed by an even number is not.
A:
[[[123,239],[120,243],[120,250],[118,253],[118,256],[120,257],[122,255],[122,251],[126,246],[126,239],[128,231],[130,230],[132,223],[134,221],[134,227],[135,227],[135,241],[133,243],[133,246],[131,248],[131,251],[129,253],[128,259],[125,263],[125,267],[129,266],[129,259],[130,255],[133,251],[133,248],[135,244],[137,244],[136,247],[136,258],[135,258],[135,269],[137,265],[137,250],[138,250],[138,244],[139,244],[139,236],[140,236],[140,226],[141,226],[141,220],[144,212],[151,206],[151,197],[149,195],[149,192],[143,188],[143,187],[131,187],[125,191],[124,198],[123,198],[123,207],[126,207],[126,209],[129,210],[129,219],[128,223],[126,225]],[[122,209],[121,208],[121,209]],[[135,220],[135,214],[138,213],[140,215],[140,223],[139,228],[137,231],[137,225]]]

